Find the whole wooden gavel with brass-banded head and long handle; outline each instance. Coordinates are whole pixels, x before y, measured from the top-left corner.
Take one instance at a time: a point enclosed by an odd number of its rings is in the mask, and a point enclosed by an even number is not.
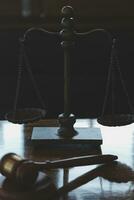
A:
[[[8,153],[1,158],[0,173],[20,185],[31,186],[37,180],[38,173],[53,168],[70,168],[84,165],[105,164],[116,160],[116,155],[89,155],[55,161],[34,162],[15,153]]]

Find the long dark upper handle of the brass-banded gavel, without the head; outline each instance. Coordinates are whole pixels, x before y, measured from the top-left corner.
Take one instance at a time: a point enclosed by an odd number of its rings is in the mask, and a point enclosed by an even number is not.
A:
[[[35,162],[35,165],[37,165],[40,170],[43,170],[52,168],[69,168],[69,167],[84,166],[84,165],[103,164],[112,162],[117,159],[118,157],[116,155],[111,155],[111,154],[90,155],[90,156],[67,158],[56,161],[47,161],[45,163]]]

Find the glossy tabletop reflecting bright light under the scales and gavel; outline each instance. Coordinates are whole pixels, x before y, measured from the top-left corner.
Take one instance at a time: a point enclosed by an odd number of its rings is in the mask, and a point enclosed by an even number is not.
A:
[[[34,126],[56,126],[57,120],[42,120],[28,125],[18,125],[7,121],[0,121],[0,157],[9,152],[17,153],[34,161],[56,160],[73,157],[59,151],[35,149],[30,144],[32,128]],[[107,173],[90,181],[87,177],[85,184],[69,192],[64,199],[68,200],[100,200],[100,199],[133,199],[134,198],[134,124],[121,127],[106,127],[97,123],[96,119],[77,119],[75,127],[99,127],[103,144],[102,154],[118,156],[118,167],[111,164]],[[98,151],[98,150],[97,150]],[[99,153],[99,152],[98,152]],[[88,154],[96,154],[88,152]],[[72,181],[95,168],[98,165],[72,167],[70,169],[48,170],[56,187]],[[0,175],[0,178],[3,178]],[[89,181],[88,181],[89,180]],[[2,187],[2,186],[1,186]]]

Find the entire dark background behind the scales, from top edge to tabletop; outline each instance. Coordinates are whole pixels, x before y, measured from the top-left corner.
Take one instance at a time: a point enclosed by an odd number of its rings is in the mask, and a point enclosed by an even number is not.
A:
[[[11,3],[12,2],[12,3]],[[60,30],[60,10],[69,4],[75,12],[75,29],[85,32],[104,28],[117,40],[118,58],[133,104],[134,13],[132,1],[32,1],[31,14],[22,16],[20,1],[0,3],[0,118],[13,109],[18,73],[19,38],[30,27]],[[63,51],[59,37],[34,31],[26,41],[30,66],[47,109],[47,117],[63,112]],[[96,117],[102,112],[110,62],[111,40],[96,32],[76,40],[71,64],[71,110],[77,117]],[[130,112],[116,71],[116,111]],[[27,70],[23,69],[18,108],[40,107]],[[111,91],[106,112],[111,112]]]

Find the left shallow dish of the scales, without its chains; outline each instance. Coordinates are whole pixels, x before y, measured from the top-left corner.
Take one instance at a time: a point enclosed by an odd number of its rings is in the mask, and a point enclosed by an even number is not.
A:
[[[15,124],[26,124],[44,118],[46,111],[40,108],[24,108],[11,111],[5,115],[5,119]]]

